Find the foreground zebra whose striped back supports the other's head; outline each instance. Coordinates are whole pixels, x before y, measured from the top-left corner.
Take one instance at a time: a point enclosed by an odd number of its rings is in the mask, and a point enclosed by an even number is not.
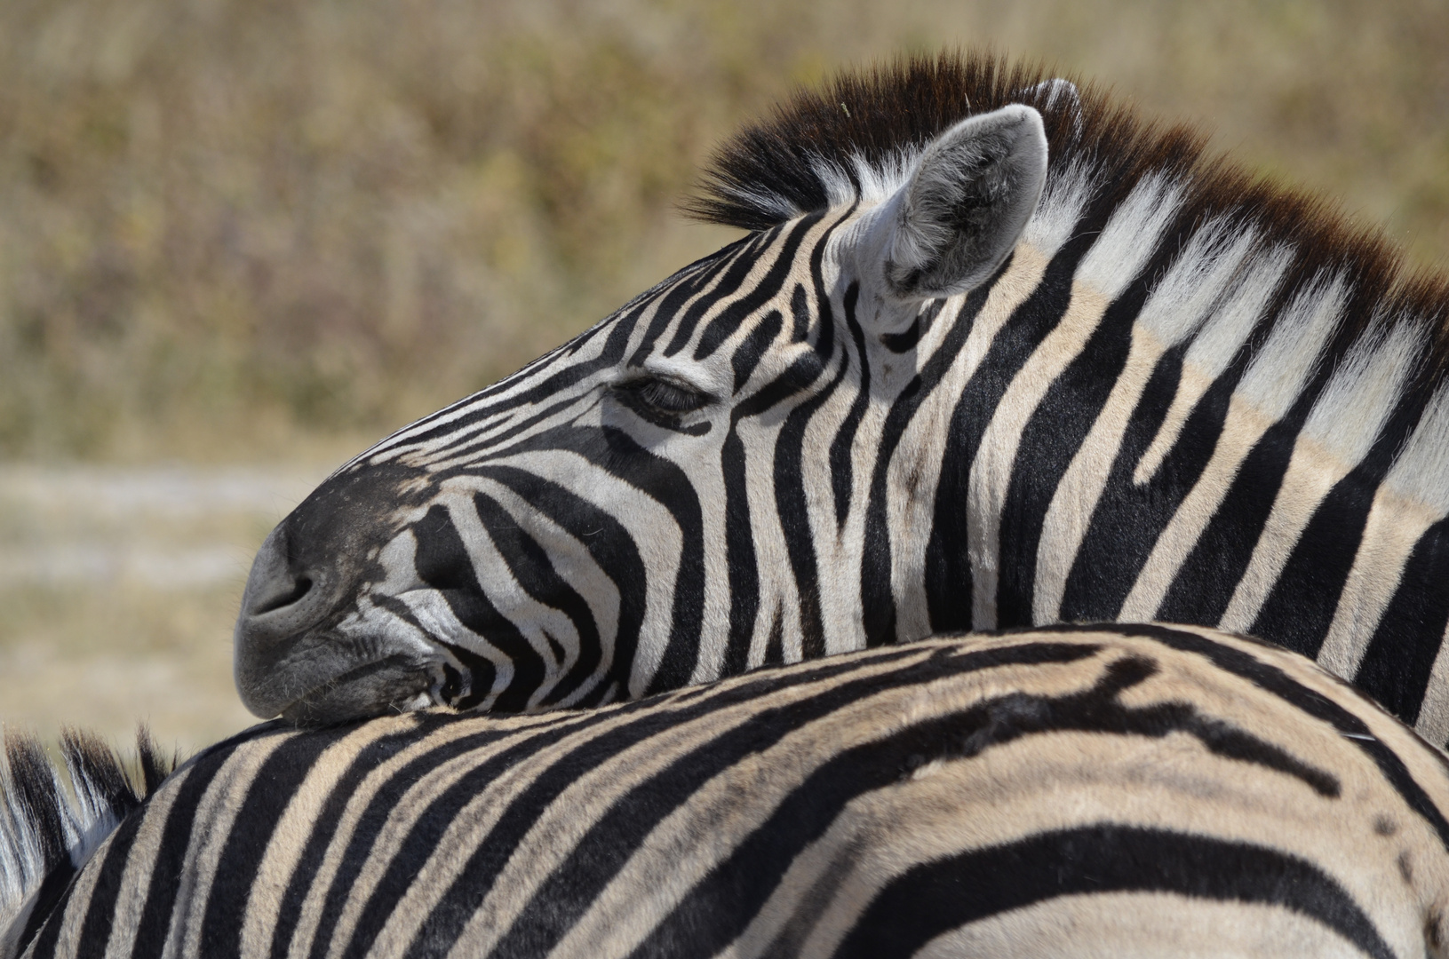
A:
[[[57,856],[0,959],[1442,958],[1446,813],[1443,753],[1303,656],[1059,624],[264,723]]]

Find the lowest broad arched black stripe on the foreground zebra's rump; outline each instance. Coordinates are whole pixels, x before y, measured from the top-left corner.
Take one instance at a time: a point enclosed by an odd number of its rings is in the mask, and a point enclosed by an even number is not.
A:
[[[1279,905],[1327,926],[1374,959],[1397,959],[1343,887],[1310,862],[1265,846],[1116,823],[1037,833],[917,865],[875,897],[835,955],[907,956],[966,923],[1061,895],[1103,892]]]

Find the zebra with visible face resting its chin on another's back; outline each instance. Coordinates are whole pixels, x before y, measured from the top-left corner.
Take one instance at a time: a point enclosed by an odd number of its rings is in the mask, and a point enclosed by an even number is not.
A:
[[[716,156],[746,235],[343,465],[259,549],[259,717],[616,700],[953,630],[1165,620],[1449,740],[1442,277],[990,56]]]

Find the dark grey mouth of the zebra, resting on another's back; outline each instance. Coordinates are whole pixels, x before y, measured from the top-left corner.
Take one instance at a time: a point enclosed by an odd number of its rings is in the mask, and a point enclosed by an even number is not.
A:
[[[443,675],[436,663],[394,653],[367,662],[313,687],[278,710],[296,726],[326,726],[345,720],[410,713],[445,705]]]

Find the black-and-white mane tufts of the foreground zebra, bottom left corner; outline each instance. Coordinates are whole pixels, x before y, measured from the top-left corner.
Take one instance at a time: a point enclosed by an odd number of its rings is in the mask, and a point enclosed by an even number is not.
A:
[[[177,765],[142,727],[136,733],[139,776],[94,733],[67,729],[61,755],[71,790],[35,736],[6,732],[0,758],[0,956],[10,955],[26,917],[43,916],[41,898],[65,884],[46,884],[78,869],[120,821]],[[54,888],[49,888],[54,887]],[[39,895],[38,895],[39,894]]]

